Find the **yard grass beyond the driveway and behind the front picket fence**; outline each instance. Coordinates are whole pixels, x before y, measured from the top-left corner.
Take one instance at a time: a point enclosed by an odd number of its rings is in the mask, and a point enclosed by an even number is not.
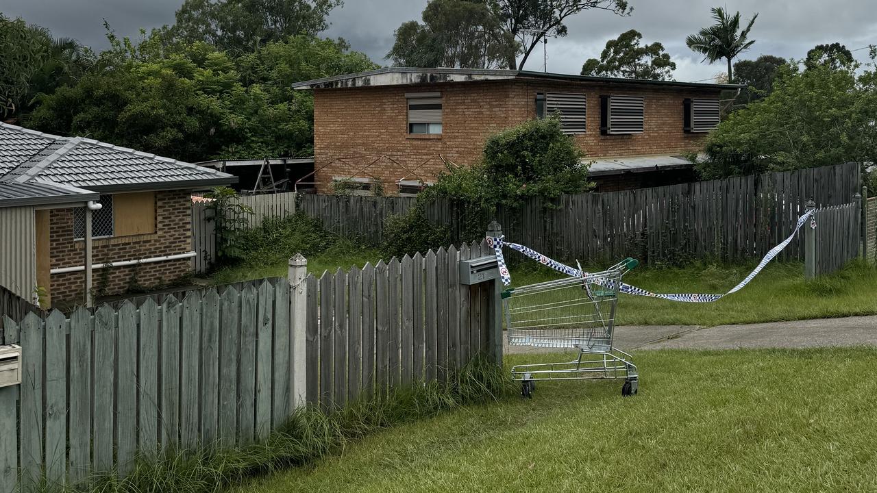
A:
[[[341,245],[308,259],[308,270],[321,275],[381,259],[376,249]],[[603,266],[604,267],[604,266]],[[686,268],[636,268],[625,282],[653,292],[724,293],[733,288],[755,262],[740,265],[700,265]],[[599,270],[591,266],[588,270]],[[286,263],[225,268],[212,277],[217,284],[286,275]],[[558,278],[559,274],[535,262],[512,268],[511,279],[521,286]],[[622,295],[618,323],[623,325],[723,325],[804,318],[877,314],[877,269],[852,262],[844,270],[805,282],[800,263],[771,263],[744,289],[711,304],[687,304]]]

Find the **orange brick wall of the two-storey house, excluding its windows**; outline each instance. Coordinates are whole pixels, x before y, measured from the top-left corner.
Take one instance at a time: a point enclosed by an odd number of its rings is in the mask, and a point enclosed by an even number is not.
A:
[[[442,95],[442,134],[410,135],[405,93],[431,91]],[[576,135],[575,141],[590,157],[697,151],[706,136],[682,131],[682,101],[718,96],[718,91],[703,89],[538,81],[315,89],[315,181],[324,183],[317,189],[325,191],[332,176],[374,175],[391,192],[403,176],[434,180],[445,169],[439,154],[459,165],[472,164],[481,157],[489,135],[535,118],[536,93],[553,91],[587,95],[587,132]],[[645,96],[645,132],[600,135],[600,96],[604,94]],[[381,159],[367,167],[381,155],[392,156],[398,164]]]

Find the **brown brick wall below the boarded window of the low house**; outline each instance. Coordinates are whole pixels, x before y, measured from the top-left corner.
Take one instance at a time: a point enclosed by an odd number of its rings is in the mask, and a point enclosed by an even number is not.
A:
[[[155,193],[156,228],[151,234],[139,234],[110,239],[95,239],[92,261],[96,264],[184,254],[192,250],[192,203],[189,190],[159,191]],[[84,243],[73,238],[73,209],[55,209],[49,225],[50,257],[52,268],[81,266],[84,263]],[[106,294],[125,292],[137,271],[142,286],[153,286],[185,275],[191,269],[191,260],[162,261],[139,266],[110,268],[106,277]],[[103,284],[103,269],[93,274],[93,286]],[[85,282],[83,272],[52,275],[52,304],[78,303],[82,300]]]

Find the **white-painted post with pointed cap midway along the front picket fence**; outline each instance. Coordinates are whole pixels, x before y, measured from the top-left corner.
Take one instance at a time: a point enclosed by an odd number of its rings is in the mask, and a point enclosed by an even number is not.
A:
[[[308,260],[302,254],[289,259],[289,396],[293,408],[303,406],[307,400],[308,367],[305,361],[307,345],[307,298]]]

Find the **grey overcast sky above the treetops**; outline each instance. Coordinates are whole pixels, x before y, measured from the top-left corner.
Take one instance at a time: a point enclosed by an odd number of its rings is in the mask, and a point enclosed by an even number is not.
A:
[[[675,79],[695,81],[724,72],[721,63],[708,65],[685,46],[685,37],[711,24],[709,7],[715,0],[629,0],[634,11],[629,18],[609,12],[585,11],[567,19],[569,35],[548,41],[548,71],[578,74],[581,64],[599,57],[608,39],[631,28],[643,40],[660,41],[676,62]],[[0,0],[5,16],[22,17],[43,25],[55,36],[79,39],[97,49],[106,47],[102,18],[119,35],[137,36],[147,29],[174,22],[174,11],[182,0]],[[332,26],[325,36],[342,37],[353,49],[386,64],[384,54],[393,41],[393,30],[404,21],[420,19],[426,0],[346,0],[332,12]],[[724,3],[731,11],[750,18],[758,11],[752,29],[757,42],[743,58],[776,54],[801,58],[816,44],[840,41],[855,49],[877,44],[877,15],[874,0],[738,0]],[[854,55],[865,61],[867,50]],[[542,69],[542,49],[535,50],[525,68]]]

